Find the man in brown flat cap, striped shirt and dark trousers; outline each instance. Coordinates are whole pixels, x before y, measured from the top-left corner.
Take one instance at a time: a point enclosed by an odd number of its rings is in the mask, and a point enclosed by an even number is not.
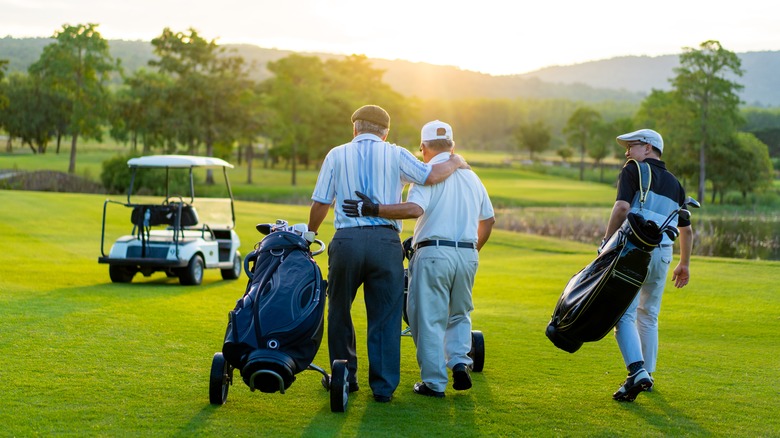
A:
[[[436,184],[468,165],[458,155],[430,165],[388,143],[390,116],[365,105],[352,114],[351,142],[328,152],[317,177],[309,230],[317,231],[334,206],[336,234],[328,248],[328,348],[330,361],[346,359],[349,391],[358,390],[352,302],[363,285],[368,319],[368,384],[378,402],[389,402],[400,381],[403,248],[401,221],[348,217],[344,200],[355,191],[375,204],[397,204],[406,184]]]

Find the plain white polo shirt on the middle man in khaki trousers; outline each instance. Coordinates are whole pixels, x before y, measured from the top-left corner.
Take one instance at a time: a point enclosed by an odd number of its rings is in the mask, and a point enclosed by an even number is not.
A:
[[[442,152],[428,164],[449,158],[449,152]],[[406,202],[419,205],[425,212],[414,227],[415,245],[434,239],[476,243],[479,221],[494,216],[487,190],[471,169],[458,169],[436,185],[413,184]]]

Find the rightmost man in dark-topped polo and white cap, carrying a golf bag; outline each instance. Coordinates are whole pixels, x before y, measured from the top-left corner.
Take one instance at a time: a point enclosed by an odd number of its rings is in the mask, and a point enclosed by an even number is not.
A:
[[[626,158],[649,164],[650,190],[640,206],[639,170],[626,162],[618,177],[617,200],[612,208],[604,239],[608,239],[621,226],[629,212],[639,213],[646,220],[661,224],[666,217],[685,203],[685,189],[666,170],[661,161],[664,141],[661,134],[652,129],[640,129],[617,137],[626,148]],[[679,218],[679,220],[677,219]],[[693,231],[690,219],[677,216],[672,226],[680,231],[680,262],[674,269],[672,280],[678,288],[688,284]],[[658,357],[658,313],[664,292],[666,275],[672,262],[672,244],[664,234],[661,244],[653,250],[647,278],[626,313],[615,325],[615,338],[628,368],[628,377],[612,398],[618,401],[634,401],[642,391],[650,391]],[[603,242],[602,242],[603,245]]]

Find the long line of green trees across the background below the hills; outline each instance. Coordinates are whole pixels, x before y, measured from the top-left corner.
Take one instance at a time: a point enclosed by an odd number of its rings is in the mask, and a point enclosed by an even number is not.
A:
[[[125,73],[97,25],[64,25],[26,74],[4,77],[6,63],[0,60],[0,127],[9,136],[7,149],[18,139],[35,153],[52,143],[59,152],[69,139],[74,173],[79,140],[108,133],[140,154],[238,154],[250,164],[251,182],[255,145],[262,143],[264,158],[284,163],[296,184],[298,166],[316,166],[350,138],[352,111],[377,103],[392,117],[389,140],[401,145],[416,146],[422,123],[443,119],[457,127],[456,143],[469,149],[527,151],[531,160],[555,150],[564,161],[577,157],[581,179],[594,163],[603,180],[604,161],[623,152],[614,137],[649,127],[672,145],[664,159],[698,187],[700,199],[705,187],[714,200],[729,190],[746,196],[772,184],[765,142],[778,141],[780,114],[740,109],[741,85],[732,79],[743,73],[739,58],[717,41],[685,48],[672,90],[654,90],[638,106],[405,97],[362,55],[322,60],[292,54],[269,62],[273,76],[257,82],[250,74],[257,66],[194,29],[166,28],[151,44],[156,58]],[[111,85],[117,76],[121,85]],[[751,124],[763,136],[745,132]]]

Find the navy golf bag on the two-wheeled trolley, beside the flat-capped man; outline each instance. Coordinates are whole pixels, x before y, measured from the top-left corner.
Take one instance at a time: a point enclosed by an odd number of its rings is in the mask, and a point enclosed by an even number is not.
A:
[[[326,281],[309,242],[289,231],[270,232],[244,266],[250,280],[230,312],[222,353],[252,390],[283,393],[319,349]]]

